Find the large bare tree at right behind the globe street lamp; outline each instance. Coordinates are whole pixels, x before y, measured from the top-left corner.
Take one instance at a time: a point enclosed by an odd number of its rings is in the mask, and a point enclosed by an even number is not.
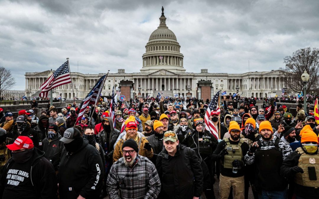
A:
[[[292,56],[284,58],[285,68],[280,68],[281,72],[286,77],[292,77],[292,81],[286,81],[289,89],[299,93],[303,90],[303,82],[301,81],[301,74],[306,70],[309,74],[308,89],[318,88],[319,76],[319,49],[301,48],[293,53]]]

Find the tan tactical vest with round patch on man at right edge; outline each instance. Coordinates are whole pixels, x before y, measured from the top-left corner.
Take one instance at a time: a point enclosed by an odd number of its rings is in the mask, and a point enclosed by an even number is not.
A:
[[[319,154],[306,154],[301,147],[296,149],[300,155],[298,167],[302,168],[303,174],[297,173],[295,182],[305,187],[319,187]],[[318,151],[319,152],[319,151]],[[315,167],[317,180],[309,180],[308,167]]]

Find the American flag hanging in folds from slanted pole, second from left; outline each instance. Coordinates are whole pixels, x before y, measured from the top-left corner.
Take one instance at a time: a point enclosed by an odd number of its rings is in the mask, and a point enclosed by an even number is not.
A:
[[[78,114],[78,119],[75,124],[78,124],[79,121],[81,121],[81,118],[85,112],[86,107],[89,104],[96,104],[96,101],[99,99],[99,96],[101,94],[101,91],[103,89],[103,85],[105,82],[107,75],[103,75],[98,82],[94,85],[93,89],[87,94],[87,96],[84,98],[82,103],[79,107],[81,107],[80,112]]]

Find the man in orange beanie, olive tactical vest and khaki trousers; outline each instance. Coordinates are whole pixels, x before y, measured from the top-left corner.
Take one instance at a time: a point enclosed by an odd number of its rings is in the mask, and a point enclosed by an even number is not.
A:
[[[234,198],[244,198],[244,155],[249,146],[240,139],[241,129],[237,122],[229,123],[230,138],[220,141],[215,149],[212,159],[221,161],[219,176],[219,195],[227,199],[230,188],[234,189]]]

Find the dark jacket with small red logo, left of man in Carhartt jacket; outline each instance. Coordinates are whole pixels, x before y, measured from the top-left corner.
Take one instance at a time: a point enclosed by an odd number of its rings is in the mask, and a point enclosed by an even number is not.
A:
[[[47,136],[42,142],[44,157],[53,164],[53,167],[56,171],[58,170],[61,153],[64,149],[63,142],[60,141],[61,138],[62,136],[57,132],[57,136],[55,139],[49,142]]]

